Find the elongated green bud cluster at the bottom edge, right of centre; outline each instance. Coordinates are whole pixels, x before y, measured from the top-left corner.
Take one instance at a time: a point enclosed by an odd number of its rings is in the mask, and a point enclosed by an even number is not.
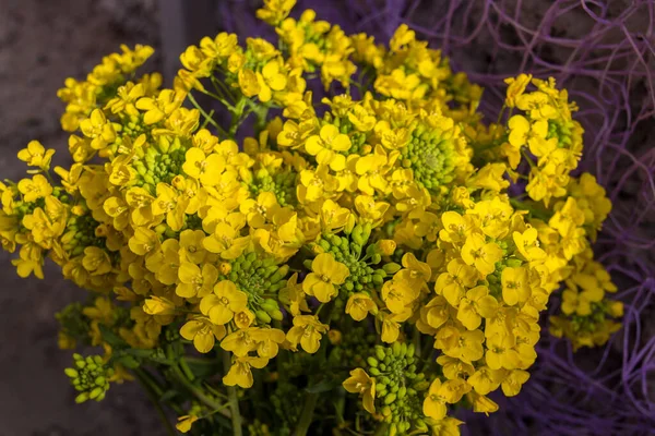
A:
[[[418,372],[414,344],[395,342],[392,347],[376,346],[374,355],[367,359],[368,373],[376,378],[376,403],[389,435],[404,435],[410,428],[426,429],[421,391],[430,383]]]

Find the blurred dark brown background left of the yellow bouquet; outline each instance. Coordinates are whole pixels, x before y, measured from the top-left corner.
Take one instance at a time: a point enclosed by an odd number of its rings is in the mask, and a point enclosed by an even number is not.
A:
[[[0,0],[0,178],[20,179],[19,149],[39,140],[58,150],[57,89],[83,78],[120,44],[159,46],[156,0]],[[158,69],[160,58],[150,61]],[[60,160],[61,161],[61,160]],[[159,435],[139,386],[112,386],[103,403],[76,405],[57,347],[53,315],[83,292],[49,265],[47,280],[20,279],[0,251],[0,436]]]

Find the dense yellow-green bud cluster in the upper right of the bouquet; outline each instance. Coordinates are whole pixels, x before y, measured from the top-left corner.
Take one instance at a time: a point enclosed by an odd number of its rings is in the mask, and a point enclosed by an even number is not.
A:
[[[453,141],[441,133],[419,123],[408,144],[401,148],[403,167],[412,168],[414,179],[432,193],[453,180],[455,168]]]

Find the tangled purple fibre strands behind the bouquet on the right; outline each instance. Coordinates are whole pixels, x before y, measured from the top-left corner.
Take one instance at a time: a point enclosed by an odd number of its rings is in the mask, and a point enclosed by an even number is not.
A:
[[[259,4],[218,1],[222,27],[271,36],[253,17]],[[553,76],[569,89],[585,129],[580,170],[614,203],[594,249],[626,303],[623,328],[606,347],[573,353],[544,323],[522,392],[492,397],[500,410],[489,417],[457,416],[471,435],[655,434],[655,1],[306,0],[296,14],[307,8],[379,41],[407,23],[486,88],[480,108],[489,119],[507,76]],[[556,295],[550,311],[557,305]]]

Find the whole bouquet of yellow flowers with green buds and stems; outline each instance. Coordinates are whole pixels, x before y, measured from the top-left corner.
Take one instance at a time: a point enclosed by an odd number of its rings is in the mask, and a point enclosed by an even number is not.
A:
[[[138,378],[171,434],[166,410],[198,435],[458,434],[455,409],[528,380],[551,293],[574,348],[620,327],[576,107],[520,74],[483,123],[483,89],[406,25],[386,47],[294,3],[258,11],[276,46],[188,47],[171,89],[135,74],[143,46],[67,80],[73,164],[19,153],[2,246],[91,291],[57,315],[61,348],[103,349],[73,354],[78,402]]]

